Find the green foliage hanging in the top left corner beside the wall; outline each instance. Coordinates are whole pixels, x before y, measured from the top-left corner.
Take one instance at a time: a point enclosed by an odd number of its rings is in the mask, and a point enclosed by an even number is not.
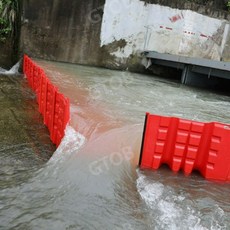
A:
[[[18,0],[0,0],[0,42],[17,32]]]

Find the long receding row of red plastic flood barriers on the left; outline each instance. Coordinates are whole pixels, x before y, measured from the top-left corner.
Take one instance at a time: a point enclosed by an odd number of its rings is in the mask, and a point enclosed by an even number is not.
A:
[[[50,82],[44,70],[27,55],[24,55],[23,72],[36,93],[39,112],[49,129],[50,138],[58,146],[70,119],[69,99],[58,92],[58,88]]]

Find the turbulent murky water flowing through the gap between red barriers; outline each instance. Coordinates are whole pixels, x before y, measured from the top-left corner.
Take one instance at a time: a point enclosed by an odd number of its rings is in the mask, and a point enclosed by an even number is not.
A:
[[[42,169],[0,190],[0,229],[230,229],[230,184],[137,168],[145,112],[229,123],[229,96],[38,62],[70,98],[71,121]]]

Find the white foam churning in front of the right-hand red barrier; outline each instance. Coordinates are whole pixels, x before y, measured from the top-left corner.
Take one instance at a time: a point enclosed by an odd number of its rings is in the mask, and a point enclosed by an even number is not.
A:
[[[154,216],[155,229],[208,229],[201,225],[200,213],[185,204],[186,197],[139,172],[138,176],[137,190]]]

